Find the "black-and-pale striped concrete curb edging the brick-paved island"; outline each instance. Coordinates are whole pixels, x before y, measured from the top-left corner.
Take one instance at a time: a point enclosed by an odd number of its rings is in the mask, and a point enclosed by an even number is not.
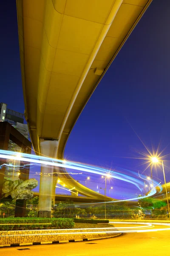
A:
[[[72,242],[80,242],[80,241],[91,241],[91,240],[99,240],[105,238],[113,238],[116,236],[121,236],[122,233],[116,233],[111,236],[103,236],[97,238],[85,238],[85,239],[71,239],[71,240],[60,240],[60,241],[45,241],[45,242],[32,242],[32,243],[21,243],[21,244],[0,244],[0,247],[17,247],[17,246],[30,246],[30,245],[41,245],[41,244],[60,244],[60,243],[72,243]]]

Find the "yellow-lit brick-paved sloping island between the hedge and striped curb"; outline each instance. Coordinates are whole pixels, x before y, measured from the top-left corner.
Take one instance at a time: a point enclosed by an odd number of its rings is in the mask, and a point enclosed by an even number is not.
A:
[[[111,231],[115,233],[109,233]],[[88,241],[119,235],[114,228],[0,231],[0,247]]]

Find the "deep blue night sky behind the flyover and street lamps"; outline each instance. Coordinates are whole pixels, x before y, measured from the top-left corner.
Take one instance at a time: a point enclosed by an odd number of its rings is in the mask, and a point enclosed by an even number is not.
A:
[[[146,166],[139,166],[142,160],[123,158],[147,152],[133,129],[150,150],[160,142],[160,150],[167,146],[165,153],[170,152],[169,10],[169,0],[153,0],[74,126],[65,148],[67,159],[141,173]],[[24,112],[15,1],[3,1],[0,19],[0,102]],[[153,172],[163,181],[161,169]],[[91,182],[102,181],[91,175]],[[127,196],[138,193],[120,181],[111,184],[114,197],[122,198],[125,186]],[[96,183],[89,186],[96,188]]]

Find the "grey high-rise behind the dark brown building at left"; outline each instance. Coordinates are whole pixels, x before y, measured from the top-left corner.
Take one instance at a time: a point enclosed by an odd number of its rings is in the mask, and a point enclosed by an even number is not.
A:
[[[16,128],[21,134],[23,134],[28,139],[28,125],[24,124],[24,114],[13,111],[9,108],[7,108],[7,104],[0,103],[0,122],[8,122],[14,128]],[[18,147],[15,143],[13,143],[11,140],[8,144],[8,150],[10,151],[17,151],[20,152],[20,147]],[[7,164],[13,164],[14,166],[7,166],[5,171],[5,178],[9,180],[17,180],[18,179],[18,173],[20,170],[20,161],[14,160],[8,161]]]

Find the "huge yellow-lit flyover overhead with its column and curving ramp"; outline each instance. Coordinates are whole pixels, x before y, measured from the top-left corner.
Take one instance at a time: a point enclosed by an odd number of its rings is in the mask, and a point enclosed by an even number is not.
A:
[[[63,159],[91,94],[151,0],[17,0],[25,116],[37,154]],[[135,44],[135,42],[134,42]],[[39,215],[50,216],[57,177],[42,167]],[[104,196],[58,177],[79,194]]]

